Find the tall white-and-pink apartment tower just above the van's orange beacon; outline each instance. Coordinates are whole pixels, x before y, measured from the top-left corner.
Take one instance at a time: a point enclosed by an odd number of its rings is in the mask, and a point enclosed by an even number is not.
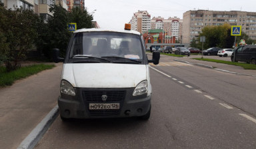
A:
[[[137,13],[133,13],[133,17],[129,23],[131,24],[132,30],[145,33],[151,29],[151,15],[147,11],[138,11]]]

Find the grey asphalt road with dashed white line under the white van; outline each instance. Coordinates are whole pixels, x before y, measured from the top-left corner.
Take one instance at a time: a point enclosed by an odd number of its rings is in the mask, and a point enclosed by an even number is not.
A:
[[[256,148],[256,78],[173,59],[150,69],[148,121],[58,117],[35,148]]]

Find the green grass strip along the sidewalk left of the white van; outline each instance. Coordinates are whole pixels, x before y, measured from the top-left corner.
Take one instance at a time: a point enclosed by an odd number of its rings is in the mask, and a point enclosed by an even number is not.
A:
[[[30,65],[27,67],[21,67],[20,69],[9,73],[7,73],[5,67],[0,67],[0,86],[10,86],[15,80],[37,74],[45,69],[52,69],[53,67],[55,67],[55,65]]]

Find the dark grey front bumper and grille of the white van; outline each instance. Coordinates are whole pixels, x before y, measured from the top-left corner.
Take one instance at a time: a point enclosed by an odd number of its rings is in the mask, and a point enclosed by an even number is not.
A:
[[[134,88],[76,88],[75,97],[61,94],[58,98],[60,115],[63,118],[121,118],[143,116],[151,105],[151,95],[132,96]],[[119,92],[116,95],[115,92]],[[121,92],[121,93],[120,93]],[[123,93],[122,93],[123,92]],[[101,100],[102,94],[117,96]],[[110,95],[113,94],[113,95]],[[120,95],[123,94],[123,95]],[[89,103],[119,103],[117,110],[89,110]]]

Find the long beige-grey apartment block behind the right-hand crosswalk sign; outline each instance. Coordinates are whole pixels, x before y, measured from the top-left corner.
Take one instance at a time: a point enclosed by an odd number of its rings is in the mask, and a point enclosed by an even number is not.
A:
[[[207,25],[241,25],[244,33],[256,39],[256,12],[197,10],[183,13],[182,43],[190,43],[199,37]]]

